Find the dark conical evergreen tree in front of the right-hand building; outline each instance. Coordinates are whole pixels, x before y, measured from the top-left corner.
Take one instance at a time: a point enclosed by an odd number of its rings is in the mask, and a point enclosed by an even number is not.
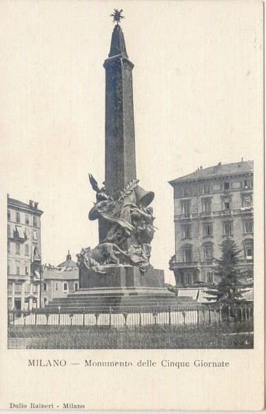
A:
[[[212,296],[207,296],[205,299],[215,302],[240,302],[243,299],[243,290],[245,290],[241,288],[240,282],[241,276],[245,274],[239,267],[241,250],[229,237],[223,241],[220,248],[221,258],[216,259],[217,266],[214,269],[214,275],[221,280],[215,288],[205,290],[207,295]]]

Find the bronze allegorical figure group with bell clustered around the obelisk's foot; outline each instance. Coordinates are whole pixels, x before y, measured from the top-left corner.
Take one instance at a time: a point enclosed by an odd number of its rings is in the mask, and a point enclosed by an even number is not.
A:
[[[108,231],[96,248],[81,250],[79,265],[99,273],[104,273],[106,264],[121,263],[147,271],[151,267],[150,243],[155,231],[153,209],[148,206],[154,193],[143,190],[138,185],[139,180],[132,180],[118,195],[108,195],[105,186],[99,188],[91,174],[89,178],[96,191],[96,203],[89,219],[105,221]]]

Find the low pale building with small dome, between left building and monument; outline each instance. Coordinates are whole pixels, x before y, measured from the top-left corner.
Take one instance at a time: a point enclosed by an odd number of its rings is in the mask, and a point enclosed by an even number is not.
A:
[[[69,250],[65,262],[58,266],[43,266],[42,281],[42,306],[54,298],[67,297],[79,288],[79,268]]]

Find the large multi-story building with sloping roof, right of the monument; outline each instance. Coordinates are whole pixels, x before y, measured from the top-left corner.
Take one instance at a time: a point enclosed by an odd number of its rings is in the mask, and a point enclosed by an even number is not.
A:
[[[242,250],[241,270],[253,277],[253,161],[198,168],[170,181],[174,188],[176,286],[216,283],[219,245],[232,237]]]

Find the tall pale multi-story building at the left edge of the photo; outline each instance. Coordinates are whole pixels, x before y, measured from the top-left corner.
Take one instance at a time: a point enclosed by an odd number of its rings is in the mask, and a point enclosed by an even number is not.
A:
[[[8,308],[40,305],[41,215],[38,203],[8,196]]]

